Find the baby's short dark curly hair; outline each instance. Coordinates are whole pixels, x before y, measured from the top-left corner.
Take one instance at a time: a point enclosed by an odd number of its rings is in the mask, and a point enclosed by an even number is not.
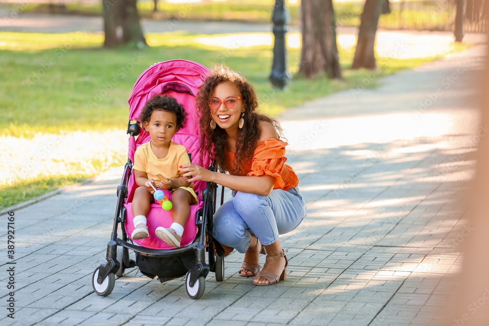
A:
[[[183,106],[178,104],[177,100],[168,95],[155,95],[144,106],[141,114],[139,114],[139,120],[141,123],[150,122],[151,114],[153,111],[167,111],[177,116],[177,130],[185,126],[185,120],[188,113],[185,112]]]

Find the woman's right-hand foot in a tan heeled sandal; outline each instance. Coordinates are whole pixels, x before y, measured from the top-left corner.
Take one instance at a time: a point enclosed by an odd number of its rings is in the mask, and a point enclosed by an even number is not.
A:
[[[255,285],[270,285],[287,279],[287,265],[289,264],[287,257],[282,248],[278,250],[270,250],[266,246],[267,260],[263,265],[262,271],[255,277],[253,283]]]

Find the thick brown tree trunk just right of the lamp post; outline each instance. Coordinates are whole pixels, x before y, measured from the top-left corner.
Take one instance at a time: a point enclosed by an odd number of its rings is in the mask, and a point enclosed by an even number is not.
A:
[[[306,78],[326,72],[341,78],[332,0],[301,1],[302,53],[299,74]]]

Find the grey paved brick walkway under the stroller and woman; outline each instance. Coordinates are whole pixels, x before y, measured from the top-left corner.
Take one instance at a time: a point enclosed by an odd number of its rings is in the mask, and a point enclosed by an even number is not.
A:
[[[429,325],[444,315],[470,235],[464,190],[474,169],[473,85],[482,46],[284,113],[289,161],[307,219],[282,236],[288,280],[256,287],[225,259],[194,301],[183,280],[160,284],[137,268],[97,296],[121,169],[15,211],[7,259],[1,217],[1,325]],[[366,73],[364,84],[375,79]],[[371,81],[370,81],[371,82]],[[279,92],[272,95],[280,96]],[[421,102],[421,103],[420,103]],[[478,134],[478,136],[477,136]],[[262,257],[262,263],[265,257]],[[15,319],[6,317],[15,262]]]

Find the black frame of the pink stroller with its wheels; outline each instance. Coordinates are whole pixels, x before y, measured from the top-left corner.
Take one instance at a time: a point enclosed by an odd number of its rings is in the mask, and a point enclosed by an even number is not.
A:
[[[129,120],[127,133],[133,137],[139,135],[139,132],[139,123],[131,124],[131,120]],[[216,274],[216,281],[222,281],[224,278],[224,249],[212,237],[212,217],[216,211],[218,185],[213,182],[207,182],[206,187],[202,190],[203,208],[197,211],[196,225],[198,227],[198,233],[192,243],[176,249],[150,249],[134,244],[132,239],[126,234],[124,228],[124,222],[127,217],[127,210],[124,203],[128,197],[129,178],[132,170],[133,163],[131,159],[128,159],[128,162],[124,166],[121,183],[117,186],[117,206],[111,239],[107,243],[107,261],[102,262],[92,275],[94,291],[100,296],[108,296],[111,294],[115,285],[115,276],[122,277],[126,268],[135,267],[138,256],[142,259],[145,257],[155,257],[159,259],[167,258],[169,260],[180,259],[187,270],[185,282],[187,294],[192,299],[199,299],[204,293],[205,277],[209,271]],[[211,163],[209,170],[216,172],[214,163]],[[122,239],[117,237],[119,224],[121,225]],[[129,249],[133,250],[136,254],[136,261],[129,258]],[[205,260],[206,251],[208,252],[208,262]],[[160,282],[163,283],[182,277],[185,273],[181,274],[181,270],[180,268],[179,270],[176,269],[175,272],[170,271],[170,275],[165,275],[163,279],[158,275]],[[156,276],[147,272],[145,273],[142,270],[140,271],[150,278]]]

